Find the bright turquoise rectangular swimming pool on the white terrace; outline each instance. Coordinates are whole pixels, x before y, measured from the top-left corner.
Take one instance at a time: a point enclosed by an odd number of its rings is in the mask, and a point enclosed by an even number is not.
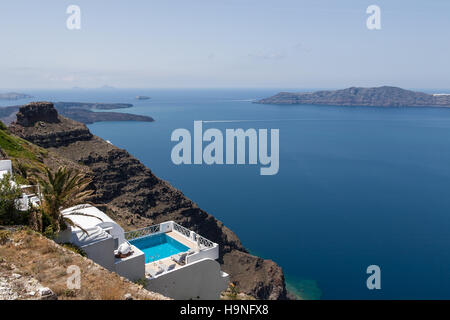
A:
[[[187,246],[165,233],[130,240],[130,243],[144,252],[145,263],[164,259],[189,250]]]

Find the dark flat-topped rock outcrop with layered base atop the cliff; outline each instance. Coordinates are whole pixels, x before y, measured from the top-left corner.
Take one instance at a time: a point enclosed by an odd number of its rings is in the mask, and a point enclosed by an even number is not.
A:
[[[13,134],[26,137],[43,148],[57,148],[92,138],[84,124],[59,116],[49,102],[33,102],[20,107],[17,121],[9,128]]]

